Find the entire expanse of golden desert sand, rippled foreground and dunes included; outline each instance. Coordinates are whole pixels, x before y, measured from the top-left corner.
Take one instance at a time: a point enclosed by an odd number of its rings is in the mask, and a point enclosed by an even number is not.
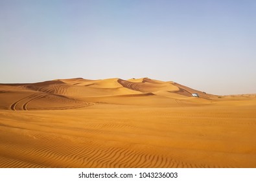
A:
[[[0,167],[256,167],[255,143],[256,94],[149,78],[0,84]]]

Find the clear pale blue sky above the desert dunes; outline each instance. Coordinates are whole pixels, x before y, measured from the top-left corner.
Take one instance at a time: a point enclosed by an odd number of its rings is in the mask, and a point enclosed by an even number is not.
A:
[[[0,83],[152,78],[256,93],[256,1],[0,0]]]

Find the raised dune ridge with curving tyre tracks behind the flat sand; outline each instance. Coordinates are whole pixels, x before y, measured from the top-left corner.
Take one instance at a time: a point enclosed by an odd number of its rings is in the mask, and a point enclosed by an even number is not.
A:
[[[181,101],[197,104],[211,103],[206,100],[216,98],[215,95],[196,91],[178,83],[149,78],[131,80],[73,78],[40,83],[0,84],[0,92],[0,109],[14,111],[76,109],[93,105],[101,100],[107,101],[113,97],[119,98],[121,104],[130,104],[126,101],[127,97],[137,100],[138,96],[150,96],[148,99],[155,100],[157,104],[165,100],[163,105],[174,103],[174,106]],[[191,99],[193,92],[200,94],[201,101],[197,98]],[[111,103],[111,100],[107,102]],[[143,101],[141,103],[144,104]]]

